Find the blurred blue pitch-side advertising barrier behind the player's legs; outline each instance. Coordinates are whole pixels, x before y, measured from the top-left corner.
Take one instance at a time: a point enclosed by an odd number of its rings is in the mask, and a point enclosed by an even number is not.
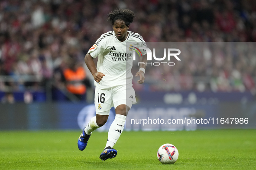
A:
[[[94,104],[70,102],[0,104],[0,109],[0,130],[82,129],[96,114]],[[129,111],[125,130],[254,129],[255,113],[255,102],[163,104],[141,101]],[[98,131],[107,131],[114,118],[112,108],[109,120]]]

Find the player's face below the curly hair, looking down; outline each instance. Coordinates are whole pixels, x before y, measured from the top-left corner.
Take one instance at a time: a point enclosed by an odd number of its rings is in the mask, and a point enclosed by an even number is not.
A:
[[[114,29],[117,39],[121,42],[125,41],[125,39],[127,37],[127,30],[129,29],[129,26],[127,27],[123,20],[118,19],[114,22],[113,29]]]

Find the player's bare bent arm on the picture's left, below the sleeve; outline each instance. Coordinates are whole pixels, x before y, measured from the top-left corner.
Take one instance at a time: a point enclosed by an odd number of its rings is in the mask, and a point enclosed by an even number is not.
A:
[[[94,77],[94,80],[98,83],[100,80],[105,76],[102,72],[97,72],[97,68],[94,63],[94,58],[91,57],[91,54],[87,53],[84,57],[84,62],[88,69],[90,70],[92,76]]]

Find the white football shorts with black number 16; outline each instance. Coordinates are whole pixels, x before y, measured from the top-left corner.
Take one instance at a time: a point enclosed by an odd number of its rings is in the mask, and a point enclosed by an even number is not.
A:
[[[94,104],[96,113],[109,115],[111,107],[117,108],[120,104],[132,107],[136,104],[135,91],[132,85],[118,85],[100,89],[95,87]]]

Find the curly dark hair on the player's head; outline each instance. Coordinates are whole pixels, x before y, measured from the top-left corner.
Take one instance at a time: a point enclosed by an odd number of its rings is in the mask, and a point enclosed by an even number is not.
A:
[[[120,19],[124,21],[125,25],[128,27],[135,18],[135,13],[131,11],[130,9],[115,9],[107,14],[108,18],[107,20],[111,22],[112,25],[114,25],[114,22],[117,19]]]

